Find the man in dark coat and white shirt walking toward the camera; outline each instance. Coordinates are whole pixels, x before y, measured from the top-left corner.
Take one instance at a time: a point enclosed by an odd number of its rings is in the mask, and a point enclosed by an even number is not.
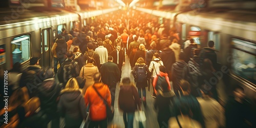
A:
[[[120,74],[122,74],[122,66],[125,64],[125,56],[120,44],[117,44],[116,49],[111,52],[111,55],[113,56],[113,62],[116,63],[120,70]]]

